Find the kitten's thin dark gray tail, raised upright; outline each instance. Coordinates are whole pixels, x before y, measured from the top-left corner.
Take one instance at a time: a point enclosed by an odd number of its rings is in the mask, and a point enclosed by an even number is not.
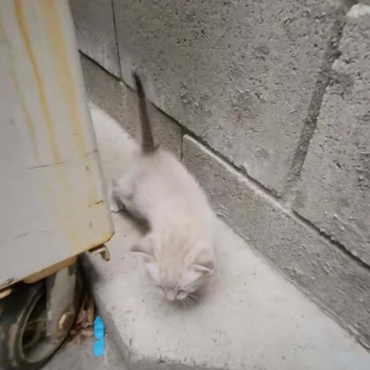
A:
[[[142,87],[141,79],[137,73],[133,73],[136,90],[139,97],[139,115],[141,121],[141,151],[149,154],[155,151],[157,148],[154,144],[152,127],[150,125],[147,101],[145,98],[144,88]]]

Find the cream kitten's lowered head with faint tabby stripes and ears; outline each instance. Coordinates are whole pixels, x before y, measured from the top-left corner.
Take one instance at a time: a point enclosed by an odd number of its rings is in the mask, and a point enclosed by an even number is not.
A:
[[[191,299],[215,270],[212,248],[190,238],[149,233],[131,250],[144,254],[149,275],[171,301]]]

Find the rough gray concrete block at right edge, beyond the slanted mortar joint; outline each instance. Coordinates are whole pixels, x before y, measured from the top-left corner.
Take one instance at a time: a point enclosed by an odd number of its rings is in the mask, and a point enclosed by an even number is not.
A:
[[[339,48],[294,209],[370,265],[370,11]]]

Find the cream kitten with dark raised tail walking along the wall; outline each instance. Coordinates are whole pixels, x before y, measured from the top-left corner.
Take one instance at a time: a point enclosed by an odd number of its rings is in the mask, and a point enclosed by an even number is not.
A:
[[[134,74],[141,119],[141,153],[112,183],[111,211],[120,205],[144,218],[150,231],[132,251],[168,300],[192,300],[215,270],[215,215],[205,194],[171,153],[154,145],[144,89]]]

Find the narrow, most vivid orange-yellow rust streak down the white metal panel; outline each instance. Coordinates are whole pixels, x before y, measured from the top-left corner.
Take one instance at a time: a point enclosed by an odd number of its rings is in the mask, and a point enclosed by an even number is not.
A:
[[[26,53],[27,53],[28,59],[30,60],[33,74],[36,79],[37,92],[40,98],[41,107],[44,112],[44,117],[45,117],[48,137],[49,137],[49,143],[50,143],[50,149],[53,154],[54,161],[59,162],[60,154],[57,148],[57,142],[55,140],[55,132],[54,132],[54,127],[53,127],[53,121],[51,119],[51,112],[50,112],[50,108],[47,103],[46,92],[44,89],[43,81],[41,79],[40,72],[38,71],[36,59],[34,57],[33,50],[31,47],[31,41],[30,41],[30,36],[28,33],[27,22],[26,22],[26,17],[24,14],[22,0],[14,0],[14,9],[15,9],[15,14],[16,14],[20,34],[23,38],[24,46],[26,48]]]

